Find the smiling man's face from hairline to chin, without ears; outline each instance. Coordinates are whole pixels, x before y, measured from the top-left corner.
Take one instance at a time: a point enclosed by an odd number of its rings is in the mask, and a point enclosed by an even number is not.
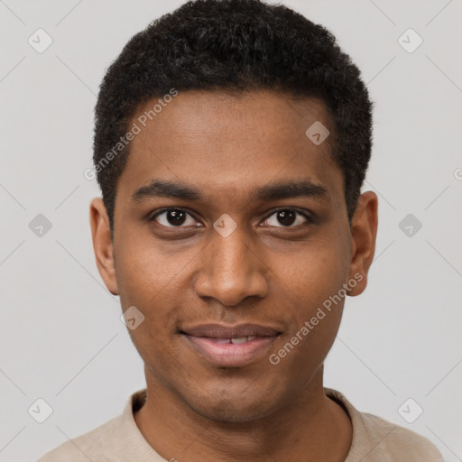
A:
[[[278,355],[355,273],[342,173],[329,138],[305,134],[316,121],[332,129],[312,98],[190,91],[131,143],[106,283],[143,313],[130,334],[147,382],[208,418],[282,409],[319,378],[337,334],[343,299]]]

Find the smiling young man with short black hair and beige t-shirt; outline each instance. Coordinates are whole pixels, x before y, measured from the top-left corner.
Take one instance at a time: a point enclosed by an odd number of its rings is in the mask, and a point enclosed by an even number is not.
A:
[[[323,27],[259,0],[199,0],[108,69],[96,108],[97,267],[146,390],[51,461],[439,461],[323,387],[365,290],[372,104]]]

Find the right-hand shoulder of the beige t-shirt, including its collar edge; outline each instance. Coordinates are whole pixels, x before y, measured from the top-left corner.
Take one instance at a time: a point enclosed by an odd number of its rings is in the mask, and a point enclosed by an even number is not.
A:
[[[441,453],[429,439],[376,415],[357,411],[336,390],[326,388],[325,392],[347,411],[353,425],[353,440],[346,462],[443,462]]]

